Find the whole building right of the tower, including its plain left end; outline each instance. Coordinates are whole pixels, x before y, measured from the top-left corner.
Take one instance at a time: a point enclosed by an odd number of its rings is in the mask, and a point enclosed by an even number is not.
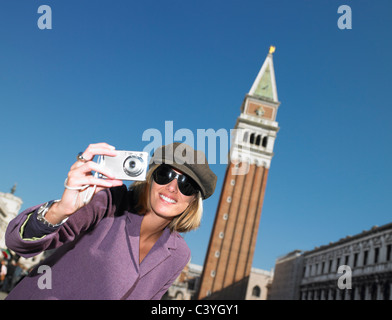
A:
[[[392,223],[289,255],[276,262],[271,299],[392,300]]]

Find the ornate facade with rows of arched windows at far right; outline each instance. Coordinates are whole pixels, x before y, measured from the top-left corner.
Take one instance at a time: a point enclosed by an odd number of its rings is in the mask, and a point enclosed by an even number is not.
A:
[[[305,253],[303,271],[304,300],[392,300],[392,223]],[[342,276],[351,289],[339,288]]]

